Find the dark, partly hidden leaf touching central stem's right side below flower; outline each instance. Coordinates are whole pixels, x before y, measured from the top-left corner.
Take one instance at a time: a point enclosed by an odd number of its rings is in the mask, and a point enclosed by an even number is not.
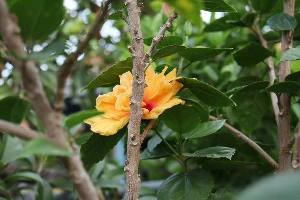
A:
[[[169,142],[170,145],[175,144],[172,142]],[[158,144],[154,150],[150,151],[148,148],[146,148],[140,155],[140,159],[160,159],[163,157],[168,157],[173,155],[174,153],[169,149],[165,143]]]

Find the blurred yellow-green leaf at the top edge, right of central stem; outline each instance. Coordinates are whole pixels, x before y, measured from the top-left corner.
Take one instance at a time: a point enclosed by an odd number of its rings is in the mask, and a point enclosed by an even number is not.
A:
[[[186,20],[195,23],[201,21],[201,2],[199,0],[165,0],[165,2],[172,6]]]

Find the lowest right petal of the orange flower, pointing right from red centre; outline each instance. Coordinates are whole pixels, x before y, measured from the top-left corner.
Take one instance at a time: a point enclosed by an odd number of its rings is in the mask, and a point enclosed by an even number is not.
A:
[[[162,112],[164,110],[169,109],[169,108],[171,108],[175,105],[178,105],[180,103],[183,105],[184,101],[179,99],[179,98],[171,98],[168,102],[152,109],[148,114],[144,114],[142,118],[147,119],[147,120],[156,119],[156,118],[158,118],[158,116],[160,114],[162,114]]]

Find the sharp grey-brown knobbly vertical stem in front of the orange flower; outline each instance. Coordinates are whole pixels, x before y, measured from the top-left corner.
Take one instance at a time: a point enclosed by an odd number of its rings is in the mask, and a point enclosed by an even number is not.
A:
[[[125,0],[129,14],[129,32],[131,35],[133,59],[133,85],[130,96],[130,119],[128,125],[127,160],[126,171],[126,199],[137,200],[140,175],[138,174],[139,163],[139,130],[143,111],[141,109],[145,85],[145,63],[142,62],[144,55],[143,39],[140,26],[140,15],[143,4],[137,5],[137,0]]]

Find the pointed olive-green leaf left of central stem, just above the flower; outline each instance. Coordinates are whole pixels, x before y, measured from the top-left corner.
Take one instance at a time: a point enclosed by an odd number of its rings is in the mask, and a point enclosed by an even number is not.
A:
[[[113,87],[120,83],[119,75],[127,71],[131,71],[133,68],[133,62],[131,58],[115,63],[107,71],[104,71],[93,79],[86,87],[84,87],[80,92],[85,89],[93,89],[96,87]]]

